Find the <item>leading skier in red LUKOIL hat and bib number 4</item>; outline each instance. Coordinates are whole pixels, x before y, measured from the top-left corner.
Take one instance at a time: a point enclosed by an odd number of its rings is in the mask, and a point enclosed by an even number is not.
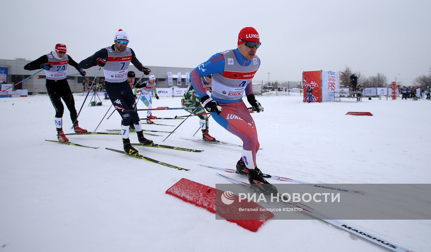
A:
[[[250,184],[259,185],[269,183],[256,165],[256,152],[259,150],[256,125],[242,97],[245,92],[253,109],[258,113],[263,111],[252,88],[253,77],[260,66],[260,59],[256,56],[260,44],[256,29],[245,27],[238,34],[238,48],[216,53],[191,72],[191,84],[202,105],[218,124],[244,143],[241,159],[236,165],[238,173],[247,174]],[[211,98],[199,81],[210,74]],[[271,184],[265,186],[265,191],[277,192]]]

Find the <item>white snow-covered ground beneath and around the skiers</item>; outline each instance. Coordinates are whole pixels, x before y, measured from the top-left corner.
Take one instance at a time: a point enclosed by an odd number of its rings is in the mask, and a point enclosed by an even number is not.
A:
[[[84,96],[75,100],[79,110]],[[257,100],[265,108],[253,114],[263,147],[257,164],[266,173],[313,183],[431,183],[431,101],[373,98],[356,103],[342,98],[337,103],[303,103],[294,95]],[[82,128],[94,131],[111,105],[104,103],[108,106],[89,107],[87,100],[79,116]],[[162,97],[154,106],[179,107],[180,98]],[[144,105],[140,102],[138,108]],[[374,116],[345,115],[349,111]],[[159,117],[187,114],[153,112]],[[54,115],[48,96],[0,99],[0,251],[386,250],[320,220],[270,220],[253,233],[167,195],[182,177],[212,187],[225,183],[215,171],[197,164],[233,168],[240,158],[240,147],[182,140],[199,128],[196,117],[163,143],[204,152],[137,147],[144,156],[191,169],[178,171],[104,149],[122,149],[116,135],[69,137],[99,149],[46,142],[56,140]],[[156,122],[178,125],[181,120]],[[66,133],[73,132],[67,109],[63,124]],[[115,112],[97,131],[119,128]],[[161,131],[173,128],[144,125]],[[209,132],[241,144],[211,119]],[[161,135],[148,138],[162,143],[167,134]],[[195,137],[201,137],[200,132]],[[131,134],[131,141],[137,141],[136,135]],[[346,222],[400,246],[430,251],[431,221]]]

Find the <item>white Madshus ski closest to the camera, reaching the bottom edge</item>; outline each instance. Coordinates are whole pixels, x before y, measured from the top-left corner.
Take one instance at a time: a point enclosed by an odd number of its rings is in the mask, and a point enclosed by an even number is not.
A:
[[[253,187],[251,187],[250,184],[248,184],[248,183],[233,179],[231,177],[227,177],[227,176],[219,174],[219,173],[217,173],[217,176],[222,177],[225,180],[228,180],[229,182],[231,182],[233,184],[237,184],[237,185],[244,187],[248,190],[251,190],[255,193],[261,193],[258,190],[254,189]],[[383,246],[384,248],[387,248],[387,249],[390,249],[393,251],[397,251],[397,252],[406,252],[406,251],[411,252],[412,251],[410,249],[403,248],[402,246],[399,246],[395,243],[388,242],[386,239],[382,239],[378,236],[375,236],[375,235],[369,233],[368,231],[360,229],[359,227],[355,227],[353,225],[347,224],[347,223],[342,222],[342,221],[330,219],[330,218],[328,218],[328,216],[326,216],[326,215],[324,215],[324,214],[314,210],[313,208],[311,208],[307,205],[304,205],[300,202],[291,202],[291,201],[290,202],[284,202],[281,200],[280,196],[279,196],[279,199],[280,199],[280,203],[282,203],[282,204],[290,205],[290,207],[302,208],[304,210],[304,211],[302,211],[303,213],[311,215],[311,216],[318,218],[322,221],[326,221],[329,224],[334,225],[335,227],[339,227],[339,228],[346,230],[350,233],[356,234],[357,236],[365,238],[366,240],[369,240],[370,242],[375,243],[377,245]]]

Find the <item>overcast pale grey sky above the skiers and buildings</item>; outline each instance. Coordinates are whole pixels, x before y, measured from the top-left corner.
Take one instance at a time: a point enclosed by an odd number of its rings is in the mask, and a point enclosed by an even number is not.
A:
[[[347,65],[410,84],[431,67],[430,0],[15,0],[1,9],[2,59],[34,60],[62,43],[79,62],[122,28],[144,65],[194,68],[253,26],[262,42],[254,81]]]

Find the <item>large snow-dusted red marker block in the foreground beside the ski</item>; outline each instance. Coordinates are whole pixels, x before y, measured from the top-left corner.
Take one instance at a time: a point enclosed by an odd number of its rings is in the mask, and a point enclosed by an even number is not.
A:
[[[222,195],[226,192],[186,178],[180,179],[166,190],[166,193],[185,202],[205,208],[209,212],[218,214],[227,221],[234,222],[252,232],[256,232],[265,221],[274,217],[272,212],[269,211],[238,212],[238,208],[261,208],[261,206],[253,201],[242,200],[242,202],[239,202],[236,195],[229,195],[229,204],[226,204],[226,198],[222,198]],[[224,199],[225,201],[223,201]]]

